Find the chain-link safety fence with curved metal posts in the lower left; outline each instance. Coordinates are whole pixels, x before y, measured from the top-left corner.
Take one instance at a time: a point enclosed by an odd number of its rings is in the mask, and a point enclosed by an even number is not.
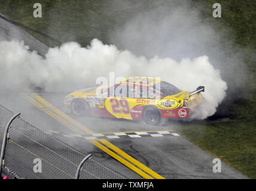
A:
[[[0,105],[1,171],[16,178],[126,178]],[[36,159],[36,160],[35,160]],[[41,162],[41,169],[35,170]],[[0,174],[2,175],[2,174]]]

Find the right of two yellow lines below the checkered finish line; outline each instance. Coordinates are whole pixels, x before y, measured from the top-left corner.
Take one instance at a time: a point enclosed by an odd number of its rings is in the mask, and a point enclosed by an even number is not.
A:
[[[128,155],[127,153],[123,152],[123,150],[119,149],[117,146],[114,146],[114,144],[110,143],[109,141],[105,140],[105,139],[99,139],[99,141],[103,144],[105,144],[106,146],[108,146],[110,149],[114,150],[115,152],[117,152],[118,154],[120,154],[121,156],[123,156],[123,158],[126,158],[128,161],[132,162],[133,164],[135,164],[137,167],[141,168],[142,170],[144,170],[145,172],[148,172],[148,174],[153,175],[153,177],[155,178],[159,178],[159,179],[165,179],[164,177],[162,177],[161,175],[157,174],[156,172],[154,172],[153,170],[151,170],[150,168],[146,167],[144,164],[142,164],[141,162],[137,161],[135,158],[133,158],[132,156]]]

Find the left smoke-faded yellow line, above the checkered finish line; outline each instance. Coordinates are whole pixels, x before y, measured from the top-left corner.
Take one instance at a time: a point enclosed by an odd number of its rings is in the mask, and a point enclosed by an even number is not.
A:
[[[36,100],[33,100],[31,97],[26,96],[25,98],[30,101],[32,104],[34,104],[36,107],[38,107],[38,109],[41,109],[43,112],[45,112],[47,115],[50,115],[51,118],[55,119],[56,121],[59,121],[61,124],[65,125],[66,127],[68,127],[70,130],[75,131],[75,133],[78,134],[84,134],[82,131],[77,130],[77,128],[73,127],[71,124],[69,124],[68,122],[66,122],[64,119],[60,118],[59,116],[57,116],[55,113],[51,112],[51,110],[49,110],[47,107],[43,106],[42,104],[38,103]]]

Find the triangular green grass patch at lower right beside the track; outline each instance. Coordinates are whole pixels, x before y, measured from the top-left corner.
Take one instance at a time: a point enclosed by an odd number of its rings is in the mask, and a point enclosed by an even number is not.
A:
[[[204,125],[182,125],[177,129],[188,140],[217,156],[250,178],[256,178],[256,119]]]

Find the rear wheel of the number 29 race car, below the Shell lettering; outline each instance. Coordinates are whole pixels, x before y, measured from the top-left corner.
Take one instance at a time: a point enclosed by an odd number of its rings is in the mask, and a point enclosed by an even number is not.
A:
[[[142,113],[143,120],[148,125],[159,125],[161,113],[156,107],[146,107]]]

